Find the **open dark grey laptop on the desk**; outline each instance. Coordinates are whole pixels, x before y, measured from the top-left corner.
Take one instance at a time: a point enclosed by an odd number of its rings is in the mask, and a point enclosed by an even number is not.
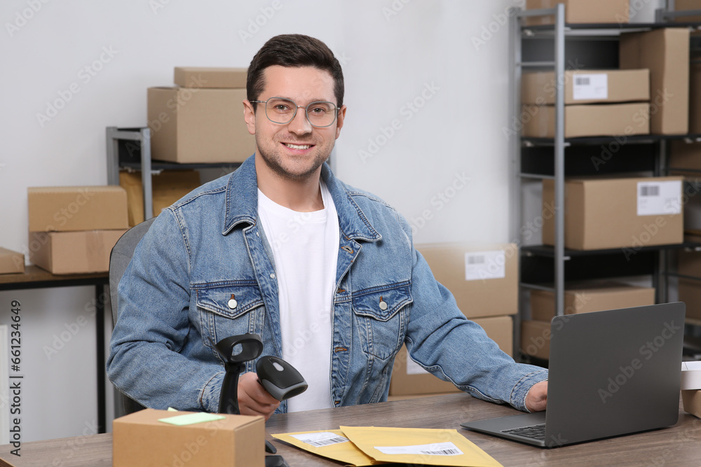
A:
[[[559,447],[676,424],[685,312],[674,302],[555,316],[547,410],[461,426]]]

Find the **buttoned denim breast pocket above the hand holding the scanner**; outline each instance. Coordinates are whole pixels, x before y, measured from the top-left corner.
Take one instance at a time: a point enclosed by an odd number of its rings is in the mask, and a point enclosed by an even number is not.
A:
[[[254,281],[205,284],[195,288],[195,292],[205,346],[211,348],[212,342],[232,335],[260,333],[264,303]]]

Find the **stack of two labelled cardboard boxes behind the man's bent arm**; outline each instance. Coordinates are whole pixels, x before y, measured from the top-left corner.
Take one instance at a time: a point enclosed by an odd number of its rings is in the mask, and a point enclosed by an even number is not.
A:
[[[513,318],[518,312],[518,249],[515,244],[416,245],[434,277],[454,295],[458,308],[482,326],[506,354],[513,354]],[[395,358],[391,396],[457,391],[407,356]]]

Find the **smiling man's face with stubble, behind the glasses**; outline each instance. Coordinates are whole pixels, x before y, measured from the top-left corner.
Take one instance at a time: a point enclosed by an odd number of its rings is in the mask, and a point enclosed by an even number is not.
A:
[[[258,97],[284,97],[298,106],[311,102],[336,103],[334,79],[328,71],[313,67],[280,67],[274,65],[264,71],[265,88]],[[265,104],[245,104],[248,131],[256,136],[256,153],[268,169],[287,179],[303,180],[320,170],[329,158],[336,138],[341,134],[346,106],[330,127],[313,127],[303,108],[285,124],[273,123],[266,117]],[[253,106],[257,111],[253,112]]]

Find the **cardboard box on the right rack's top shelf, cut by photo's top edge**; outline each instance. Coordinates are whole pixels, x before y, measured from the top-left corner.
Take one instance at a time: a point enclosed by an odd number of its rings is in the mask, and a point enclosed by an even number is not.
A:
[[[540,10],[565,4],[567,23],[627,23],[629,21],[628,0],[526,0],[526,8]],[[552,25],[554,16],[526,18],[526,25]]]

